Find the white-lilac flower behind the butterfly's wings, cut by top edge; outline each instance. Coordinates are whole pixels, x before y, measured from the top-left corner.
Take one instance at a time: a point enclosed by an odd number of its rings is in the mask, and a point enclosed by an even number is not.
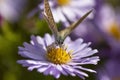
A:
[[[69,22],[78,20],[95,6],[94,0],[49,0],[49,3],[55,22],[61,21],[67,26]],[[41,11],[44,9],[43,3],[39,4],[39,8]],[[93,18],[93,14],[88,18]]]

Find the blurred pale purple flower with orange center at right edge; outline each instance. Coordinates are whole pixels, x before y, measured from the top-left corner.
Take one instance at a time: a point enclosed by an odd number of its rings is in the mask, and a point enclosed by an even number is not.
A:
[[[120,15],[111,5],[102,4],[94,23],[111,47],[111,54],[120,55]]]

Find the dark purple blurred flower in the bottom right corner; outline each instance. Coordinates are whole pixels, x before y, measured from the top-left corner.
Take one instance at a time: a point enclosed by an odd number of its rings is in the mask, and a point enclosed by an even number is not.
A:
[[[120,60],[110,59],[98,70],[97,80],[120,80]]]

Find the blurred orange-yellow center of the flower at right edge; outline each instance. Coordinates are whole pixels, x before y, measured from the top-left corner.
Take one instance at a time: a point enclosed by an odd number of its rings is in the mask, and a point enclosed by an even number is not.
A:
[[[110,25],[109,32],[115,39],[120,40],[120,28],[116,23]]]

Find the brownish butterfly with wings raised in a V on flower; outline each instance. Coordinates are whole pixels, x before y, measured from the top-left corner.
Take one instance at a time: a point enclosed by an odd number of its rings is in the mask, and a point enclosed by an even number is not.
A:
[[[53,19],[52,11],[50,9],[50,5],[48,0],[44,0],[44,18],[47,21],[50,30],[52,31],[55,37],[55,43],[58,45],[62,45],[65,38],[92,12],[90,10],[85,15],[83,15],[78,21],[72,23],[70,26],[66,27],[65,29],[58,31],[56,23]]]

